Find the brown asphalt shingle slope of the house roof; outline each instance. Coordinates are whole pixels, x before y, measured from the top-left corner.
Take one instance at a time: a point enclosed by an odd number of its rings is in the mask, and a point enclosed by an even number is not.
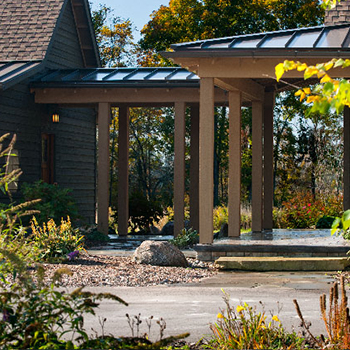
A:
[[[0,61],[43,60],[65,0],[1,0]]]

